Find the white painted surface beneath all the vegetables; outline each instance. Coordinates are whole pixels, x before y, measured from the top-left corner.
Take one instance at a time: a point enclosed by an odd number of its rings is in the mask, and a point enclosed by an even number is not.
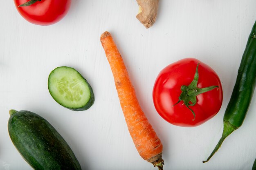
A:
[[[247,38],[256,20],[255,0],[160,0],[157,21],[145,29],[135,0],[72,0],[60,22],[37,26],[24,20],[12,0],[0,5],[0,169],[29,170],[7,131],[9,110],[30,110],[47,119],[74,151],[83,170],[156,170],[143,160],[128,133],[113,76],[100,43],[112,33],[135,86],[141,108],[164,146],[164,170],[250,170],[256,157],[256,97],[241,128],[208,163],[222,134]],[[195,128],[173,126],[158,115],[152,89],[168,64],[195,57],[218,73],[220,112]],[[91,84],[94,105],[74,112],[47,89],[57,66],[76,68]]]

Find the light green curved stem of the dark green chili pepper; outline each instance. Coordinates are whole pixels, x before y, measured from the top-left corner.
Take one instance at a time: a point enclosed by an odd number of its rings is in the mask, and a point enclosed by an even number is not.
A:
[[[217,152],[217,150],[220,148],[223,141],[228,137],[234,130],[238,129],[237,127],[231,125],[228,121],[223,120],[224,128],[222,132],[222,137],[220,138],[218,144],[214,148],[214,150],[211,152],[211,155],[207,158],[206,161],[203,161],[203,163],[208,162],[211,157]]]

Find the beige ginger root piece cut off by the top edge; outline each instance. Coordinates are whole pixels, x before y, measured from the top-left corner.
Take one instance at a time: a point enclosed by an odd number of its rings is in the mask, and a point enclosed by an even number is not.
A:
[[[136,18],[147,29],[155,23],[157,18],[159,0],[136,0],[139,5],[139,13]]]

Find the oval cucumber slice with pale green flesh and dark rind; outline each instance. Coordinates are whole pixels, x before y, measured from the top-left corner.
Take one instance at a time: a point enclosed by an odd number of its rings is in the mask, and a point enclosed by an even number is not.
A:
[[[94,103],[92,87],[71,67],[55,68],[49,75],[48,89],[58,104],[70,110],[87,110]]]

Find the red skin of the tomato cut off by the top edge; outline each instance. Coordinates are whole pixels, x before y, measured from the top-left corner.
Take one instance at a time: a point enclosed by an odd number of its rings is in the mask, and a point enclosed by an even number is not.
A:
[[[29,0],[14,0],[20,15],[37,25],[51,25],[60,21],[70,8],[71,0],[41,0],[27,7],[18,7]]]

